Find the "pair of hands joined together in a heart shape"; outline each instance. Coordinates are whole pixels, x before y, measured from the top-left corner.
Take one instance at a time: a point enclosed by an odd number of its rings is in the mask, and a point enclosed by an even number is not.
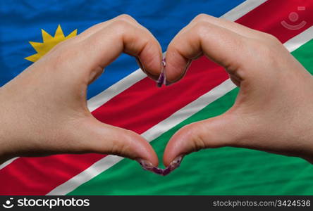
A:
[[[157,166],[142,136],[99,122],[87,109],[87,85],[122,52],[158,79],[161,46],[145,27],[120,15],[58,44],[1,87],[0,163],[16,156],[93,152]],[[178,82],[203,54],[226,69],[240,92],[223,115],[176,132],[164,152],[166,166],[180,155],[222,146],[313,161],[313,77],[275,37],[198,15],[168,45],[166,83]]]

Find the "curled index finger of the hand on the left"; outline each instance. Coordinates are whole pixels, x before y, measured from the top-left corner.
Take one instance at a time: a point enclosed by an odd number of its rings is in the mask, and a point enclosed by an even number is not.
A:
[[[75,44],[78,44],[76,56],[81,58],[80,66],[95,71],[93,75],[101,74],[123,52],[138,58],[149,77],[157,79],[161,72],[159,42],[129,15],[120,15],[82,32]]]

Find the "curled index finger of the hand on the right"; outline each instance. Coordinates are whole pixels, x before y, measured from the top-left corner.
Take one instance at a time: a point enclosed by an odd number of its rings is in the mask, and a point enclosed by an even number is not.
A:
[[[183,77],[188,63],[203,54],[227,70],[235,70],[246,58],[245,48],[249,39],[208,21],[190,23],[168,45],[166,51],[168,83],[177,82]]]

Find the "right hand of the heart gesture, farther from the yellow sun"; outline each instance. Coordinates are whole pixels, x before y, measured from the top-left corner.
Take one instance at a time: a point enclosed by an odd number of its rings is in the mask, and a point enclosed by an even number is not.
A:
[[[177,82],[202,54],[222,65],[240,92],[223,115],[176,132],[164,152],[166,166],[178,155],[223,146],[313,162],[313,77],[275,37],[198,15],[168,46],[168,82]]]

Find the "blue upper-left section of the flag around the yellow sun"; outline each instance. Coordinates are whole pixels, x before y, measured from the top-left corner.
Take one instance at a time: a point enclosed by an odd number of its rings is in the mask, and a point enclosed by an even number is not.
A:
[[[175,34],[199,13],[219,17],[243,0],[207,1],[1,1],[0,2],[0,87],[32,62],[36,53],[28,41],[42,42],[41,29],[54,34],[60,24],[64,34],[88,27],[123,13],[132,15],[159,40],[163,51]],[[88,87],[91,98],[129,75],[138,66],[134,58],[122,55]]]

